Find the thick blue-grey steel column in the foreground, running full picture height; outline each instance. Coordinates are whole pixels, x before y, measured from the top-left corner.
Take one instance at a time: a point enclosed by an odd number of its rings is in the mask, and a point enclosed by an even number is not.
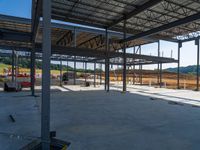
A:
[[[42,1],[42,109],[41,140],[42,150],[50,150],[50,57],[51,57],[51,1]]]

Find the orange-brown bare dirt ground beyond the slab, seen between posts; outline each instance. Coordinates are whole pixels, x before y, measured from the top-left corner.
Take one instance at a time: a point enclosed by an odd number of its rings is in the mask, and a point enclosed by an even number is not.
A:
[[[104,80],[104,73],[102,73],[102,80]],[[141,78],[142,77],[142,78]],[[127,71],[127,84],[141,84],[149,85],[149,86],[159,86],[159,74],[157,71],[147,71],[143,70],[140,72],[136,70],[134,73],[131,71]],[[100,74],[97,73],[97,82],[99,82]],[[77,78],[82,79],[83,78]],[[88,76],[88,79],[93,79],[93,74]],[[0,77],[0,87],[3,87],[4,82],[9,81],[10,79],[5,79]],[[122,82],[122,73],[121,72],[110,72],[110,81],[111,82]],[[52,78],[51,85],[59,85],[59,78]],[[36,79],[36,85],[41,85],[41,79]],[[170,72],[163,72],[162,74],[162,87],[176,89],[177,88],[177,74]],[[181,89],[196,89],[196,76],[189,74],[180,74],[180,88]]]

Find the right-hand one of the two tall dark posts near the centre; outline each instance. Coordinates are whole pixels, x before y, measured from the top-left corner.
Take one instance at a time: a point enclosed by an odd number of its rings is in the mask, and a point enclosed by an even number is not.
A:
[[[126,19],[124,19],[124,39],[126,39]],[[126,92],[126,42],[123,43],[123,92]]]

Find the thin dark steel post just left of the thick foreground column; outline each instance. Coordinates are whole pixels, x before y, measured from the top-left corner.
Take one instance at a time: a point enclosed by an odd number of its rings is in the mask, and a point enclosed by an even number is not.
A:
[[[31,51],[31,95],[35,95],[35,43],[32,42]]]

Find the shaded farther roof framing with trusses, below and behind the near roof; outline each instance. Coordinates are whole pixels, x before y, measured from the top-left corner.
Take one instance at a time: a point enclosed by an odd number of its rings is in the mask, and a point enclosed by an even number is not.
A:
[[[31,20],[23,19],[18,17],[10,17],[0,15],[0,29],[1,29],[1,40],[7,41],[19,41],[20,42],[32,42],[31,38]],[[41,23],[40,23],[41,24]],[[76,29],[77,31],[77,47],[91,48],[96,50],[103,50],[105,47],[105,31],[102,29],[88,28],[88,27],[77,27],[72,25],[64,25],[58,23],[52,23],[52,43],[53,45],[71,46],[72,45],[72,32]],[[7,31],[12,31],[8,32]],[[122,33],[109,31],[111,39],[120,39]],[[131,36],[130,34],[128,36]],[[37,43],[42,42],[42,27],[38,29],[36,40]],[[127,44],[128,47],[134,45],[147,44],[154,40],[137,40]],[[121,49],[121,44],[111,42],[111,51],[117,51]],[[3,44],[3,43],[2,43]],[[5,43],[6,44],[6,43]],[[24,45],[24,44],[22,44]]]

